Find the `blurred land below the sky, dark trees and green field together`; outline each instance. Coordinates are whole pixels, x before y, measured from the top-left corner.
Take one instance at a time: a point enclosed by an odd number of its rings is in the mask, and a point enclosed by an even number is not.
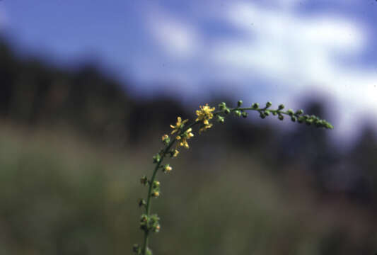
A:
[[[6,45],[1,59],[2,253],[128,254],[141,239],[139,178],[168,125],[195,107],[130,98],[93,67],[21,62]],[[326,115],[318,103],[303,107]],[[153,201],[156,254],[373,253],[373,132],[361,129],[340,152],[332,131],[250,118],[229,118],[170,160]]]

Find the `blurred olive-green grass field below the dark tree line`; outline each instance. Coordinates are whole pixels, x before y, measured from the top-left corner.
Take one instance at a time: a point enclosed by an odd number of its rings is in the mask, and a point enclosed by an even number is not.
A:
[[[109,149],[65,130],[3,126],[0,253],[131,254],[142,237],[137,198],[146,188],[138,180],[150,173],[156,149]],[[158,178],[163,199],[153,201],[153,210],[162,228],[151,239],[155,254],[357,254],[360,244],[363,251],[375,249],[373,215],[342,201],[322,202],[299,182],[299,169],[298,181],[277,179],[247,154],[195,163],[189,154],[170,160],[173,172]]]

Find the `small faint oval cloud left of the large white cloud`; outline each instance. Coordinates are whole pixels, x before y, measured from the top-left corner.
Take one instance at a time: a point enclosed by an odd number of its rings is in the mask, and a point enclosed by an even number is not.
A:
[[[199,49],[197,30],[180,18],[154,9],[149,16],[148,25],[153,38],[170,57],[187,59]]]

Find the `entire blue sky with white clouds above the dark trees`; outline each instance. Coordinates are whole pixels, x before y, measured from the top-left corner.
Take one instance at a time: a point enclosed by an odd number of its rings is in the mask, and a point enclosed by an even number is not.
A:
[[[0,1],[0,33],[20,54],[95,61],[138,95],[325,98],[337,139],[363,118],[377,125],[376,24],[374,0]]]

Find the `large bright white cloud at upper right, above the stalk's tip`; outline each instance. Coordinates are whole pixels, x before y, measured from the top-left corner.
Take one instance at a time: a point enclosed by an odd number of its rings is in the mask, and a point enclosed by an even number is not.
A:
[[[222,67],[224,77],[226,70],[231,77],[236,72],[239,81],[257,75],[283,84],[286,94],[315,89],[335,98],[339,108],[354,106],[356,115],[377,111],[377,73],[340,61],[356,58],[364,49],[368,34],[360,24],[330,14],[297,16],[289,8],[249,2],[230,4],[224,19],[243,31],[242,37],[223,38],[211,47],[210,59]],[[349,134],[354,126],[350,121],[356,119],[342,115],[338,135]]]

